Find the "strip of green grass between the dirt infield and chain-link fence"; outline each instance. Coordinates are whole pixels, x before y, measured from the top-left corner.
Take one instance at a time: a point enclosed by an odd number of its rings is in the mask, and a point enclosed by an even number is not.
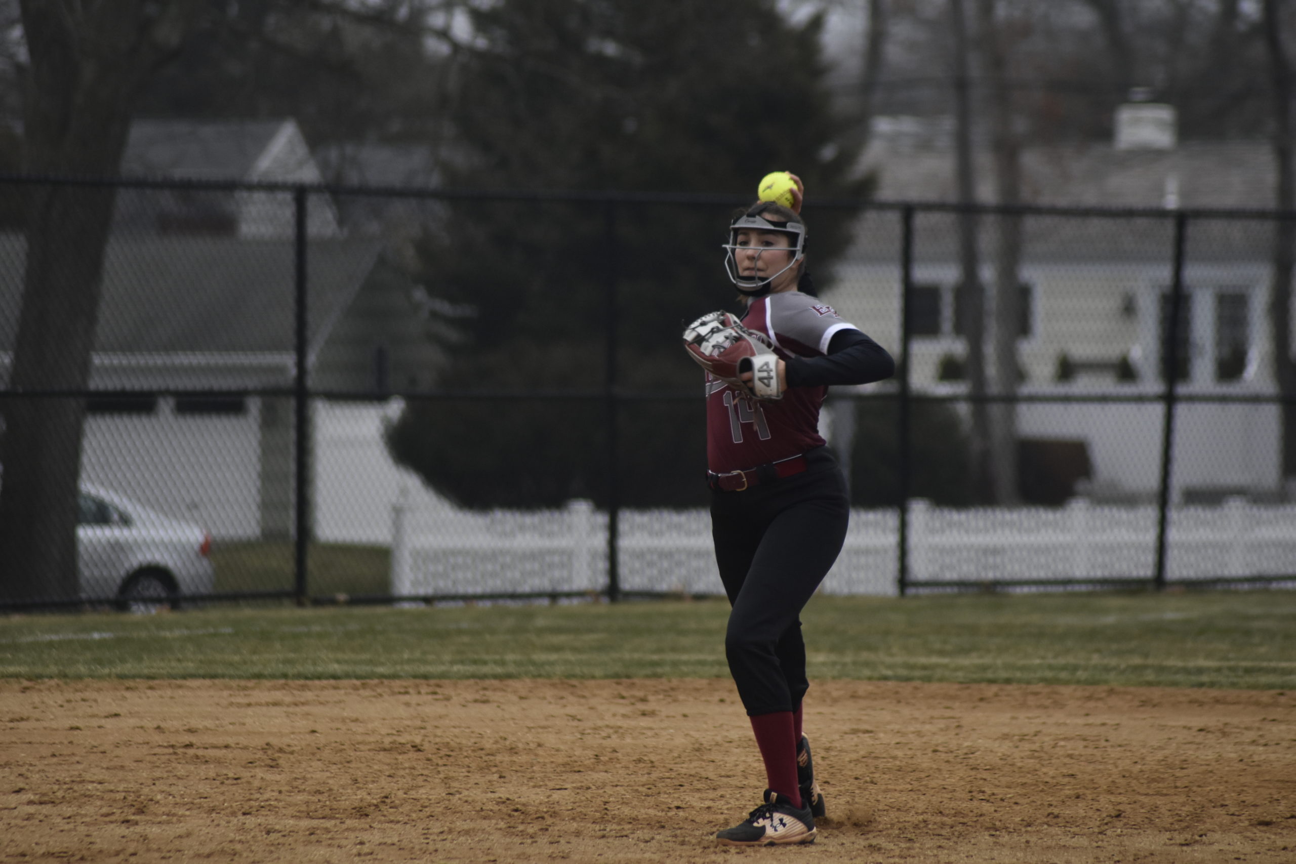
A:
[[[724,676],[723,601],[0,619],[25,677]],[[816,597],[811,677],[1296,688],[1296,592]]]

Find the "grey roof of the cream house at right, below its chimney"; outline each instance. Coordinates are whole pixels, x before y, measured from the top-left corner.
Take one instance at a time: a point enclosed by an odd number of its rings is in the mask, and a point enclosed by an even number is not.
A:
[[[862,165],[876,171],[879,201],[951,202],[954,152],[945,146],[897,146],[881,140]],[[1234,141],[1185,144],[1174,150],[1116,150],[1109,145],[1030,148],[1023,153],[1023,197],[1028,203],[1152,209],[1137,218],[1030,215],[1024,220],[1024,264],[1039,262],[1156,262],[1169,266],[1173,249],[1173,193],[1181,209],[1265,209],[1273,201],[1273,159],[1265,144]],[[976,154],[977,199],[994,201],[994,167],[984,148]],[[811,216],[813,218],[813,216]],[[886,210],[866,214],[846,260],[894,262],[899,218]],[[982,260],[993,253],[995,219],[981,224]],[[1266,222],[1195,220],[1187,232],[1187,260],[1264,262],[1271,231]],[[958,260],[956,218],[919,212],[915,260]]]

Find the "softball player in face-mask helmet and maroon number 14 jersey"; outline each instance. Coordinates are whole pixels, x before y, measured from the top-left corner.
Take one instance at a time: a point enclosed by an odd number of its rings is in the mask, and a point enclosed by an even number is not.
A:
[[[732,606],[724,653],[769,785],[745,821],[715,834],[734,846],[813,842],[814,817],[824,815],[801,731],[809,681],[800,614],[841,551],[850,505],[819,435],[819,408],[828,385],[880,381],[896,369],[876,342],[806,293],[800,197],[796,205],[762,202],[731,223],[724,264],[746,307],[741,325],[713,313],[686,332],[686,343],[691,334],[701,342],[699,333],[728,325],[763,346],[745,348],[757,354],[732,367],[736,378],[693,351],[708,368],[712,534]],[[726,343],[717,339],[708,350]]]

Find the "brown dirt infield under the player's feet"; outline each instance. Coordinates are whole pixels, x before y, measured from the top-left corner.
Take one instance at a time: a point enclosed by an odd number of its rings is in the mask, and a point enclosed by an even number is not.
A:
[[[0,681],[0,860],[1293,861],[1296,693],[826,681],[829,821],[726,850],[732,684]]]

